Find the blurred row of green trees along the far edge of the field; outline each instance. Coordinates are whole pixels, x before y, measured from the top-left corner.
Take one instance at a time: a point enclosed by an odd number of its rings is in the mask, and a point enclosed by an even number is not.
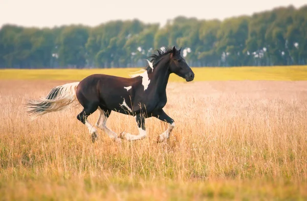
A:
[[[307,64],[307,5],[221,20],[178,16],[164,27],[140,20],[0,30],[0,68],[139,67],[154,49],[182,47],[190,66]]]

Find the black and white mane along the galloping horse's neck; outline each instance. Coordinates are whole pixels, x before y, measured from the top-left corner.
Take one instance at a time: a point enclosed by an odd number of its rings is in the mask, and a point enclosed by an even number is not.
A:
[[[155,69],[155,67],[157,66],[157,64],[159,63],[159,61],[167,54],[172,52],[172,48],[170,47],[161,47],[160,49],[155,49],[155,51],[157,51],[157,54],[152,54],[151,56],[148,57],[148,61],[150,61],[152,63],[153,69]],[[151,68],[149,66],[149,64],[146,65],[145,68],[134,72],[133,74],[130,74],[131,78],[135,78],[140,76],[142,73],[144,73],[145,71],[147,71],[147,73],[151,72]]]

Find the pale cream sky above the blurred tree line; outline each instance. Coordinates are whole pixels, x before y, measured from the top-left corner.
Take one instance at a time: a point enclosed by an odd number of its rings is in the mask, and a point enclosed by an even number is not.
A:
[[[25,27],[62,24],[97,26],[116,19],[159,22],[179,15],[198,19],[225,19],[271,10],[279,6],[306,5],[306,0],[0,0],[0,27],[6,23]]]

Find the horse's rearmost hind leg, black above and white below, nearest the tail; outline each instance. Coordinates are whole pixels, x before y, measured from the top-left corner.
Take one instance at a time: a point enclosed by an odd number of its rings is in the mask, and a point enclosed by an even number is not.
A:
[[[97,105],[91,105],[86,107],[78,114],[77,119],[86,125],[87,129],[89,129],[90,135],[92,136],[92,141],[95,142],[97,138],[97,129],[87,120],[87,117],[93,114],[97,110]]]

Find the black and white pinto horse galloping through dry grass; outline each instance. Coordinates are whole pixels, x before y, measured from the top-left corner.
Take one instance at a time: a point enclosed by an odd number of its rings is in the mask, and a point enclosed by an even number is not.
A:
[[[163,110],[167,103],[166,86],[171,73],[191,82],[194,72],[181,56],[181,48],[162,47],[156,49],[147,60],[145,68],[130,78],[111,76],[107,74],[91,74],[80,82],[73,82],[54,87],[46,98],[40,101],[28,101],[27,112],[32,119],[50,112],[60,111],[73,102],[77,102],[83,110],[77,119],[86,125],[94,143],[97,129],[87,120],[87,117],[99,110],[96,127],[104,131],[113,141],[121,142],[141,140],[146,137],[145,119],[156,117],[168,123],[167,130],[157,137],[157,143],[168,139],[175,127],[174,120]],[[118,112],[135,117],[138,135],[121,132],[117,135],[106,126],[111,112]]]

